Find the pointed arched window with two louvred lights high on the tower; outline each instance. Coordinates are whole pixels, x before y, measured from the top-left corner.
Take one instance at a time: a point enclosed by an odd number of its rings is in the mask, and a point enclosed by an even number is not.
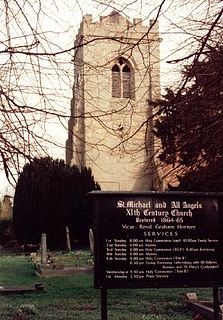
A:
[[[134,73],[124,58],[119,58],[112,67],[112,97],[134,99]]]

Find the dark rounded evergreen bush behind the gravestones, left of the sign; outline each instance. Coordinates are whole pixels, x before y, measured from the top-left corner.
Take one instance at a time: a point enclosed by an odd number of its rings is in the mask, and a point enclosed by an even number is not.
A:
[[[69,167],[63,160],[35,158],[24,166],[16,186],[13,223],[21,244],[38,244],[47,234],[50,249],[64,249],[65,228],[84,243],[92,224],[87,193],[99,189],[90,169]]]

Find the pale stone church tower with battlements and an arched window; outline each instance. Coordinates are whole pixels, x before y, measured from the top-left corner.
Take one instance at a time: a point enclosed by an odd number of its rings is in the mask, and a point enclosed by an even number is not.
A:
[[[84,16],[75,40],[66,162],[103,191],[159,189],[151,101],[160,97],[158,22]]]

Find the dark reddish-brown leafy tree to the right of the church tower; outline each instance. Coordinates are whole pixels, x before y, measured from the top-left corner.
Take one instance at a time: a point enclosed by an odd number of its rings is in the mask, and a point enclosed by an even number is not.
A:
[[[180,190],[223,191],[223,47],[185,71],[189,83],[159,102],[160,159],[184,172]]]

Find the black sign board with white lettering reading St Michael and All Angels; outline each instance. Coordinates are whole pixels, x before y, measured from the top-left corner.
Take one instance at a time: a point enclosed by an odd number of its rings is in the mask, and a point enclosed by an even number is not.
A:
[[[222,195],[91,192],[95,287],[223,285]]]

